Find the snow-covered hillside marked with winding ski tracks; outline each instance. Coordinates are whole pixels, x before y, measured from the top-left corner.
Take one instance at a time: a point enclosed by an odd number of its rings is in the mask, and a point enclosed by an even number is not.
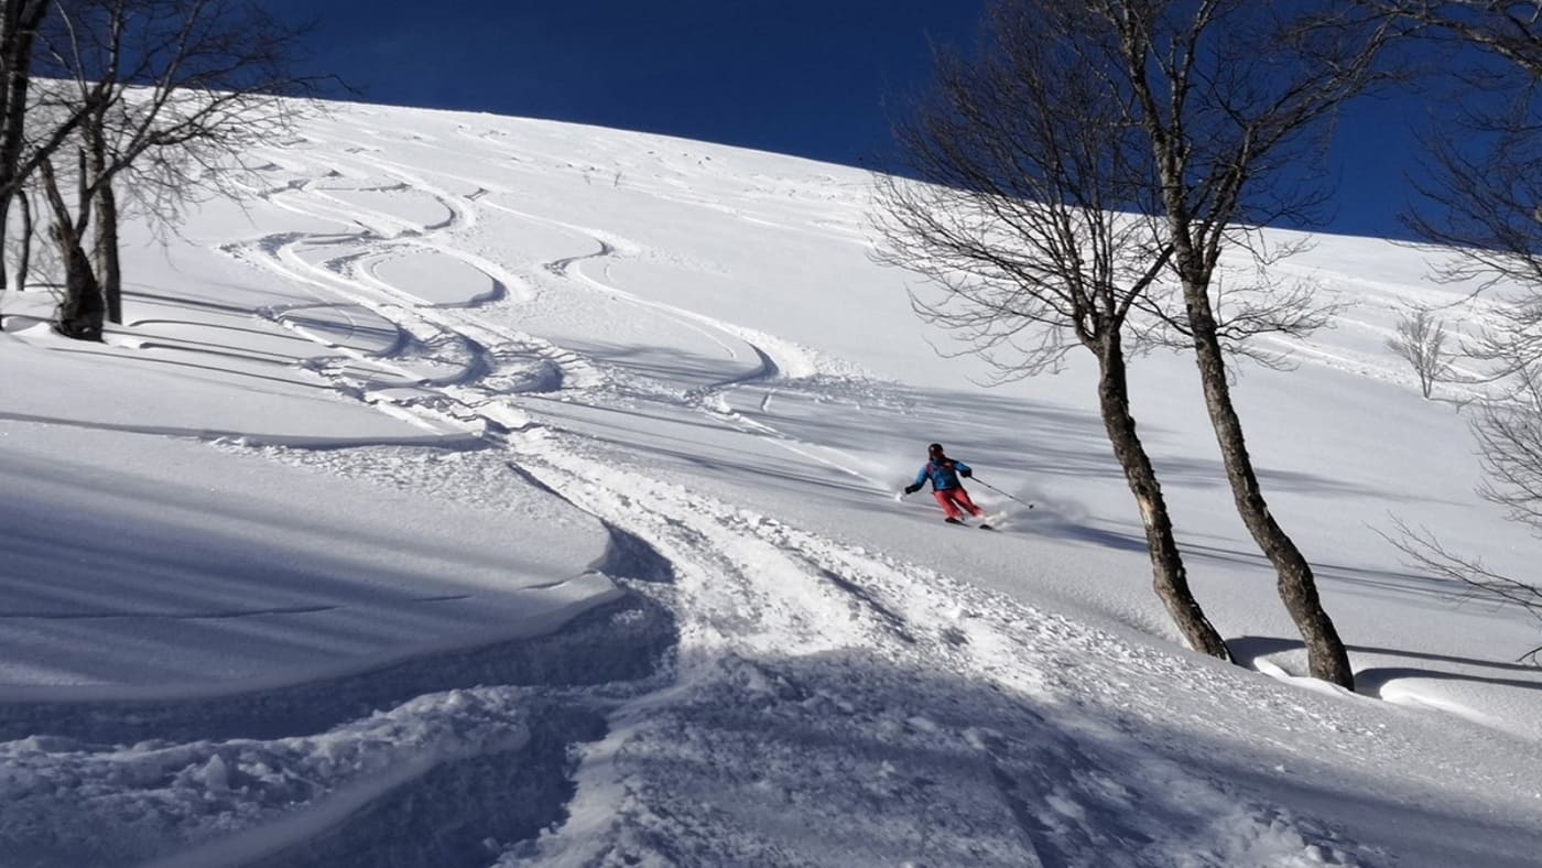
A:
[[[1537,624],[1382,537],[1536,544],[1383,347],[1463,298],[1431,251],[1318,239],[1337,327],[1237,387],[1351,695],[1192,362],[1133,410],[1243,668],[1152,594],[1089,365],[941,358],[860,171],[379,106],[253,157],[130,228],[106,345],[0,304],[0,863],[1542,865]],[[998,532],[896,500],[930,441]]]

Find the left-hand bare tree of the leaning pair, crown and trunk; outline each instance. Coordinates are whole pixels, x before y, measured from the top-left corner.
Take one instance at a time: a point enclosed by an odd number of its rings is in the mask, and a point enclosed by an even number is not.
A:
[[[1153,584],[1195,651],[1229,660],[1189,590],[1156,470],[1130,413],[1126,359],[1149,348],[1141,305],[1172,256],[1136,180],[1149,151],[1112,88],[1109,43],[1079,3],[998,6],[979,57],[941,54],[933,94],[896,126],[904,170],[876,179],[880,262],[928,278],[917,313],[1002,379],[1076,347],[1098,361],[1098,407],[1135,496]],[[1119,211],[1132,210],[1124,214]]]

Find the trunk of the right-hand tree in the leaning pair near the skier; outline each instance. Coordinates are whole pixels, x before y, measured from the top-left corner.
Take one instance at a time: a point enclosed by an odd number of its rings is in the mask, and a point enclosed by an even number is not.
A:
[[[1183,294],[1189,325],[1194,330],[1195,361],[1200,365],[1200,382],[1204,387],[1204,405],[1210,415],[1210,427],[1221,447],[1226,479],[1232,486],[1232,500],[1254,543],[1274,564],[1280,600],[1291,612],[1295,629],[1306,641],[1308,668],[1314,678],[1332,681],[1345,689],[1354,689],[1354,669],[1349,654],[1334,627],[1332,618],[1323,609],[1317,595],[1312,566],[1295,547],[1295,541],[1280,527],[1269,512],[1258,486],[1247,442],[1243,438],[1241,419],[1232,405],[1232,390],[1226,382],[1226,356],[1215,328],[1215,315],[1203,285],[1183,279]]]

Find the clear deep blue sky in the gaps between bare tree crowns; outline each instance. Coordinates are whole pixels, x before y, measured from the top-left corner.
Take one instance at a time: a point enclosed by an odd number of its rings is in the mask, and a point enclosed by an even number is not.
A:
[[[268,0],[313,17],[311,62],[392,105],[552,117],[860,163],[888,108],[968,45],[985,0]],[[1328,231],[1400,236],[1408,100],[1335,139]]]

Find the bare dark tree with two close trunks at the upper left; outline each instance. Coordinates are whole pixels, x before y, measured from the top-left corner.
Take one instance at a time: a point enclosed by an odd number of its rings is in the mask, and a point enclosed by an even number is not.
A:
[[[42,173],[65,267],[56,327],[99,339],[103,319],[122,322],[114,183],[133,174],[142,196],[171,193],[153,211],[170,217],[177,197],[219,182],[221,163],[291,123],[304,103],[287,97],[311,96],[321,77],[291,66],[301,31],[251,0],[54,2],[46,69],[82,108],[74,159]]]

